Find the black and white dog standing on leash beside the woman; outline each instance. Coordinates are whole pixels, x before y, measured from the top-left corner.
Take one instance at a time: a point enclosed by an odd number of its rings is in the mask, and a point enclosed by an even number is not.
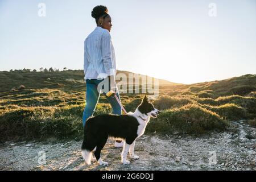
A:
[[[144,96],[142,103],[134,113],[125,115],[100,114],[89,118],[84,127],[84,141],[82,142],[82,156],[87,164],[97,162],[101,166],[108,163],[103,162],[100,155],[108,137],[125,140],[121,155],[123,164],[130,164],[126,160],[129,151],[131,158],[139,159],[134,154],[135,139],[143,135],[150,117],[156,118],[160,111],[148,102]],[[96,158],[92,157],[92,152]]]

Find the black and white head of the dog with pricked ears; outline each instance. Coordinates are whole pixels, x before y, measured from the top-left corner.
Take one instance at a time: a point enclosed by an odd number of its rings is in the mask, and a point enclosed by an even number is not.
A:
[[[155,109],[155,107],[150,102],[148,102],[147,96],[144,96],[141,105],[138,106],[138,110],[142,114],[146,114],[153,118],[156,118],[157,115],[161,113],[158,109]]]

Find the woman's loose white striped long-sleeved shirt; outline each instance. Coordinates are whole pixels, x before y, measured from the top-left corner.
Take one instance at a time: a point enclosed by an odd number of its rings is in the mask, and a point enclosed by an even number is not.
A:
[[[84,78],[106,78],[116,73],[115,51],[110,33],[96,27],[84,41]]]

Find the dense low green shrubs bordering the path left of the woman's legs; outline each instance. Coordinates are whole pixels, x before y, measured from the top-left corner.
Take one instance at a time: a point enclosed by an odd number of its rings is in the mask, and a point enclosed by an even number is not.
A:
[[[10,106],[9,109],[0,115],[1,142],[10,139],[82,137],[84,105],[25,108]],[[110,105],[98,104],[94,115],[111,111]]]

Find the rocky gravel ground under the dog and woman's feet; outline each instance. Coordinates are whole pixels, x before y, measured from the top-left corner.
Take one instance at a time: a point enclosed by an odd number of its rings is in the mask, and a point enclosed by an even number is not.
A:
[[[138,160],[121,164],[122,148],[109,140],[102,159],[107,167],[87,166],[81,156],[82,141],[6,142],[0,146],[0,170],[254,170],[256,129],[233,122],[225,133],[202,137],[143,135],[137,139]],[[44,158],[45,157],[45,158]],[[44,160],[45,159],[45,160]]]

